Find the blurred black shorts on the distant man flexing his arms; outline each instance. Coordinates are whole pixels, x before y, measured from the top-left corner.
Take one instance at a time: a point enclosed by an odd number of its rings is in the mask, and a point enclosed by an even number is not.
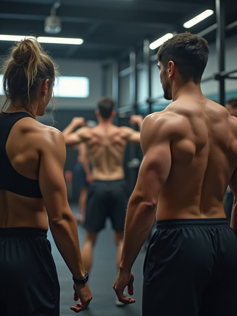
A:
[[[105,227],[106,217],[116,232],[124,231],[128,190],[124,179],[94,180],[88,191],[84,228],[97,233]]]

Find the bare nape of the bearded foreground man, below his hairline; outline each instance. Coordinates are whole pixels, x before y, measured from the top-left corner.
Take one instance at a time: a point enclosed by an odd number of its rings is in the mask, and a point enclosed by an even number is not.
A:
[[[200,83],[188,81],[180,85],[174,82],[172,86],[172,100],[175,101],[184,96],[193,96],[195,98],[200,98],[201,96],[203,96]]]

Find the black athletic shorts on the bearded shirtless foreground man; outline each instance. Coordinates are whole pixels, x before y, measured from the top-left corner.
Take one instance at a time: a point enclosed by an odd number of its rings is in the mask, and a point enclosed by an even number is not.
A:
[[[237,239],[226,219],[158,221],[146,253],[143,316],[236,316]]]

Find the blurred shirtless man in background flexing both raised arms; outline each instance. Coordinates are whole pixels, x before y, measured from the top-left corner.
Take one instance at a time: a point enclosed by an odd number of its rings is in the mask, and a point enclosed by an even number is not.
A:
[[[112,99],[102,98],[95,111],[97,126],[77,129],[84,125],[84,119],[75,117],[63,131],[66,145],[85,142],[91,156],[93,182],[88,192],[84,223],[86,233],[82,248],[83,264],[88,272],[92,265],[93,246],[98,232],[104,228],[106,217],[110,217],[112,221],[117,246],[116,263],[119,268],[128,202],[123,168],[124,153],[128,142],[140,144],[139,131],[127,126],[113,125],[116,115],[113,106]],[[132,115],[130,118],[130,123],[137,124],[139,129],[142,121],[141,115]]]

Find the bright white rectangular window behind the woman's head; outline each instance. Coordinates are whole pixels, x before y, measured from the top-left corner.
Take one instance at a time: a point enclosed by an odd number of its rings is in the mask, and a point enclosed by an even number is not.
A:
[[[59,76],[55,81],[53,94],[59,98],[87,98],[89,78]],[[3,75],[0,75],[0,95],[3,95]]]

